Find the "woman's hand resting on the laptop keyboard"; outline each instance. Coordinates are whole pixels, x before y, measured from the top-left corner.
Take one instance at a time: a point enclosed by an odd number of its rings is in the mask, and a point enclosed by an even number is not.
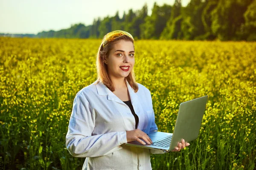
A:
[[[153,143],[151,139],[148,137],[148,135],[141,131],[140,129],[126,131],[126,139],[127,142],[137,141],[140,142],[141,144],[146,144],[145,142],[147,142],[148,144]],[[141,139],[143,139],[145,142]]]

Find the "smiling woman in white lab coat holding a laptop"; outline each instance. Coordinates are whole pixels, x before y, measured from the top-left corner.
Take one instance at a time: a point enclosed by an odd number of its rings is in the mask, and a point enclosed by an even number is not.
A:
[[[125,145],[152,144],[147,134],[158,130],[151,93],[135,82],[134,54],[131,34],[106,34],[97,54],[98,79],[76,94],[66,147],[72,156],[86,157],[83,169],[150,170],[150,153],[164,153]],[[182,141],[173,151],[188,145]]]

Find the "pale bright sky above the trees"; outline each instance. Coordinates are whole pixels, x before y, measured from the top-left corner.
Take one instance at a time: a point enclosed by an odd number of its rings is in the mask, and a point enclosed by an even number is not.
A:
[[[164,3],[173,5],[175,0],[0,0],[0,33],[37,34],[41,31],[70,28],[83,23],[91,25],[93,19],[114,16],[119,17],[129,9],[141,9],[145,3],[148,15],[154,6]],[[186,6],[190,0],[182,0]]]

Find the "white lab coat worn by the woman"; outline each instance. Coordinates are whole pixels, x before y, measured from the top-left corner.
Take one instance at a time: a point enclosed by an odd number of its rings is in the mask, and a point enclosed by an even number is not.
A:
[[[138,83],[137,93],[126,81],[138,129],[157,131],[151,93]],[[73,102],[66,147],[74,157],[86,157],[83,170],[151,170],[150,153],[162,150],[131,147],[126,131],[135,129],[130,108],[99,82],[81,89]]]

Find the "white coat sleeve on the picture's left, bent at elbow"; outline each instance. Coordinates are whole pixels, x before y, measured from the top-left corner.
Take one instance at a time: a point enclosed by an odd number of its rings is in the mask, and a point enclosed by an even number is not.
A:
[[[95,127],[95,111],[86,96],[76,95],[66,135],[66,147],[74,157],[104,156],[127,142],[126,131],[92,135]]]

